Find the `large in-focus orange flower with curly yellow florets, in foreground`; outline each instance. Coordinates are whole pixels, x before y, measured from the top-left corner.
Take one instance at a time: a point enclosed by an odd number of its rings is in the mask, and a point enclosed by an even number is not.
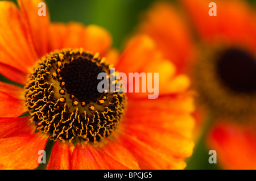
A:
[[[38,151],[54,144],[47,169],[183,169],[193,149],[189,79],[150,37],[133,37],[119,55],[104,28],[49,23],[39,2],[0,2],[0,73],[26,85],[0,82],[0,168],[35,169]],[[159,98],[99,95],[95,75],[110,63],[159,73]]]

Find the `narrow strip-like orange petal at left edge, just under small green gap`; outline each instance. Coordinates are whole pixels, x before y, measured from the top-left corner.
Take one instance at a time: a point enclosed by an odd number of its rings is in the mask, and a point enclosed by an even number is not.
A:
[[[11,85],[10,83],[0,82],[0,90],[14,98],[24,99],[23,89],[21,87]]]

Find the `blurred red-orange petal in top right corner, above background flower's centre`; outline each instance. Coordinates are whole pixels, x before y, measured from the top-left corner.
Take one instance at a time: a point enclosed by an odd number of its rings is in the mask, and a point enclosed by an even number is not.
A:
[[[246,1],[214,1],[217,16],[209,16],[210,0],[182,2],[203,39],[249,44],[256,48],[256,20]]]

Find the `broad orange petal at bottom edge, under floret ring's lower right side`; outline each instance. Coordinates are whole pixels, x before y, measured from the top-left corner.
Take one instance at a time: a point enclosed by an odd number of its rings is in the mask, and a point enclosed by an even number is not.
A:
[[[119,152],[122,151],[122,152]],[[139,169],[135,158],[119,144],[108,140],[102,147],[77,145],[72,154],[72,169]]]

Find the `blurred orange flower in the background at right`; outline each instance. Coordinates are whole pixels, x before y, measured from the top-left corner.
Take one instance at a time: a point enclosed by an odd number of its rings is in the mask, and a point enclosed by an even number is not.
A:
[[[155,3],[138,29],[164,57],[188,68],[183,72],[191,74],[199,103],[196,130],[210,112],[207,140],[222,166],[255,169],[255,14],[244,1],[214,1],[217,16],[209,16],[210,2]]]

